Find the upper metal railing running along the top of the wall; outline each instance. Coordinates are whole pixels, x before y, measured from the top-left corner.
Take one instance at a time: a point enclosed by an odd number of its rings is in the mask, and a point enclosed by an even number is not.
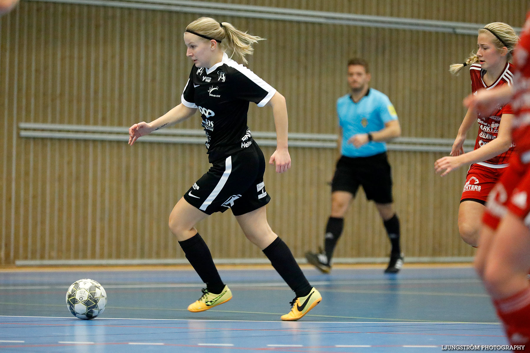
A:
[[[429,32],[476,35],[484,26],[479,23],[407,19],[403,17],[360,15],[340,12],[298,10],[269,6],[224,4],[190,0],[26,0],[51,3],[82,4],[143,10],[174,11],[207,15],[225,15],[251,19],[341,24]],[[515,29],[520,32],[520,28]]]

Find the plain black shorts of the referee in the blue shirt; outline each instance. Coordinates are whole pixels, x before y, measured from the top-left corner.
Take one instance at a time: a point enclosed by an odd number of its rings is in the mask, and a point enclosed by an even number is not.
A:
[[[331,192],[346,191],[357,194],[359,185],[368,200],[392,203],[392,175],[386,152],[370,157],[341,156],[331,182]]]

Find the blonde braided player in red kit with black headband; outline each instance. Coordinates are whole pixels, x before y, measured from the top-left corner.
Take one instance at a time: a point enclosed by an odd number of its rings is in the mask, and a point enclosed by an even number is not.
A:
[[[490,90],[511,86],[513,65],[509,61],[517,40],[514,29],[506,23],[490,23],[479,30],[476,55],[464,64],[452,65],[450,71],[457,74],[464,66],[470,66],[473,93],[483,88]],[[435,162],[435,169],[441,176],[463,165],[471,165],[458,209],[458,231],[462,239],[474,247],[478,246],[480,230],[480,222],[476,220],[481,219],[488,194],[508,166],[514,149],[510,137],[512,117],[513,110],[509,104],[496,106],[490,114],[468,110],[458,129],[451,156]],[[462,146],[475,120],[479,122],[475,148],[464,153]]]

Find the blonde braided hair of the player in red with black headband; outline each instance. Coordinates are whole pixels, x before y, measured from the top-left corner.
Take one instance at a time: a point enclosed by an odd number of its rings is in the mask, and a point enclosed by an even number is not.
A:
[[[510,25],[503,22],[492,22],[481,28],[479,34],[481,33],[489,33],[493,37],[493,44],[497,50],[502,50],[502,48],[506,47],[508,50],[506,60],[511,61],[519,37]],[[471,53],[471,56],[467,58],[464,64],[449,66],[449,72],[453,75],[458,75],[464,66],[475,64],[477,61],[479,61],[479,58]]]

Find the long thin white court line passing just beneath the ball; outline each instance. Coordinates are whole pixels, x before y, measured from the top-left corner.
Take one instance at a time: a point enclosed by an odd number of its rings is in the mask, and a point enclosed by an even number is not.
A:
[[[307,316],[306,316],[307,317]],[[0,318],[37,318],[37,319],[73,319],[73,316],[20,316],[20,315],[0,315]],[[211,320],[211,319],[143,319],[143,318],[98,318],[92,319],[91,322],[99,320],[152,320],[152,321],[212,321],[212,322],[276,322],[286,323],[285,321],[266,321],[266,320]],[[447,325],[447,324],[476,324],[476,325],[500,325],[499,322],[460,322],[460,321],[444,321],[444,322],[395,322],[395,321],[298,321],[299,323],[381,323],[381,324],[425,324],[425,325]]]

